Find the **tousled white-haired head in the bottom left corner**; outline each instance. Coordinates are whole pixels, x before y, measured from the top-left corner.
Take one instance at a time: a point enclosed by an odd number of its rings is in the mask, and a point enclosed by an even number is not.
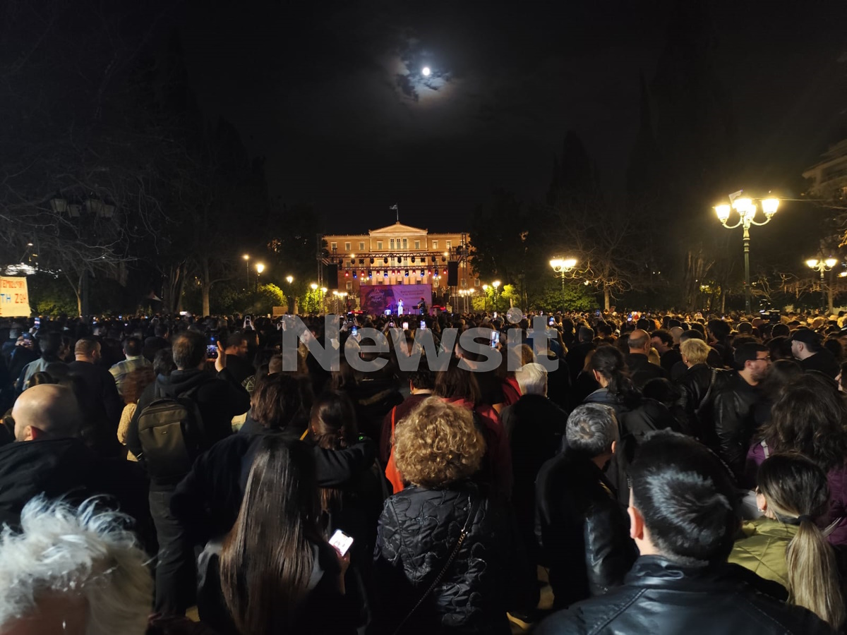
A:
[[[146,632],[152,577],[121,516],[33,499],[20,524],[21,533],[0,534],[0,632]]]

